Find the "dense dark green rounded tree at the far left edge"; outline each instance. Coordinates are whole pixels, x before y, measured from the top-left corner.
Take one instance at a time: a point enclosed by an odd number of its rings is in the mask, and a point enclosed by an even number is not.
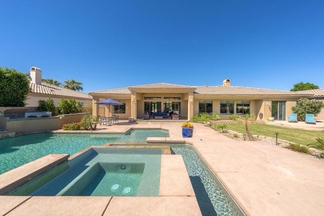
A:
[[[28,78],[15,69],[0,67],[0,106],[25,106]]]

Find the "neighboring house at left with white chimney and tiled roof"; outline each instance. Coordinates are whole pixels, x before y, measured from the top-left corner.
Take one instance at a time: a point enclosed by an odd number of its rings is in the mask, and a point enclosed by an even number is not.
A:
[[[56,107],[58,107],[58,103],[61,102],[62,98],[75,99],[83,107],[87,106],[87,104],[92,105],[92,96],[89,94],[42,82],[42,70],[37,67],[30,68],[30,78],[29,86],[31,92],[28,93],[26,100],[28,111],[35,111],[38,106],[38,101],[47,100],[48,98],[54,100]]]

